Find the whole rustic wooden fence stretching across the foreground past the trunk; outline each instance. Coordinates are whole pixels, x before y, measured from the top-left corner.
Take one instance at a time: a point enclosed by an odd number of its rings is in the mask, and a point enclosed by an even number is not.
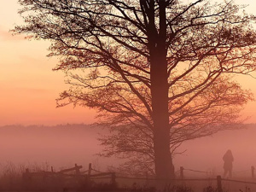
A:
[[[91,182],[96,181],[97,179],[108,179],[109,184],[115,186],[116,180],[131,180],[131,181],[145,181],[145,183],[154,183],[156,179],[154,177],[124,177],[124,176],[117,176],[115,172],[100,172],[92,168],[91,164],[89,164],[88,169],[86,171],[82,171],[83,166],[75,166],[67,169],[63,169],[60,172],[54,172],[53,167],[51,167],[50,172],[30,172],[29,169],[26,169],[26,172],[23,173],[23,180],[26,183],[32,183],[34,178],[40,178],[41,181],[44,183],[45,180],[53,178],[53,177],[61,177],[64,178],[65,181],[69,179],[73,179],[76,183],[88,183],[90,185]],[[254,180],[254,166],[251,166],[251,169],[248,169],[247,172],[250,172],[251,181],[241,181],[231,178],[222,178],[221,176],[213,176],[209,178],[188,178],[186,176],[186,172],[199,172],[199,173],[209,173],[209,172],[202,172],[193,169],[186,169],[183,166],[177,171],[177,177],[175,179],[170,180],[170,183],[196,183],[196,182],[209,182],[213,181],[214,186],[216,186],[216,191],[224,192],[224,185],[226,183],[244,183],[244,184],[252,184],[255,185],[256,183],[253,182]],[[147,175],[146,175],[147,176]],[[105,180],[106,181],[106,180]],[[135,183],[135,182],[134,182]]]

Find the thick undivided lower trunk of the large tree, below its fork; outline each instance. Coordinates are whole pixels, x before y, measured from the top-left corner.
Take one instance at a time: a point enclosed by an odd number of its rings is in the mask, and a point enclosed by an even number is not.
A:
[[[167,63],[163,53],[151,60],[151,94],[154,121],[154,164],[157,179],[174,177],[170,152]]]

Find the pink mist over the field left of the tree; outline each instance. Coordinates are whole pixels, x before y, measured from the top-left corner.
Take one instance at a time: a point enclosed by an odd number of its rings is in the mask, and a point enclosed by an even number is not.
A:
[[[99,168],[108,160],[96,156],[101,147],[96,140],[99,130],[89,125],[0,127],[1,165],[13,163],[25,166],[54,166],[55,171],[73,167],[75,163],[86,166],[92,163]]]

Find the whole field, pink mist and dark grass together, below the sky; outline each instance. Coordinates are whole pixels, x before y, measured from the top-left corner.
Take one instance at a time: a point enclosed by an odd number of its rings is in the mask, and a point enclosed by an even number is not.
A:
[[[232,180],[222,179],[221,189],[223,192],[255,192],[256,179],[252,176],[251,166],[256,161],[256,151],[247,147],[253,146],[255,141],[254,127],[224,131],[213,137],[184,143],[181,150],[187,151],[174,159],[177,179],[166,186],[166,191],[218,191],[217,176],[223,175],[222,156],[226,148],[231,146],[235,156],[233,177]],[[108,166],[118,166],[119,161],[95,160],[98,157],[94,154],[102,150],[96,140],[98,131],[102,130],[86,125],[1,127],[0,190],[154,191],[156,181],[154,177],[147,178],[146,175],[129,176],[116,172],[113,184],[113,171],[109,171]],[[49,161],[34,163],[44,160]],[[92,177],[89,179],[86,171],[90,162],[94,170],[91,170]],[[60,174],[61,170],[74,168],[75,163],[83,166],[79,169],[81,176],[75,170],[65,173],[67,175]],[[184,167],[183,179],[180,166]],[[26,169],[33,174],[31,179],[24,177]],[[97,177],[93,177],[96,174]]]

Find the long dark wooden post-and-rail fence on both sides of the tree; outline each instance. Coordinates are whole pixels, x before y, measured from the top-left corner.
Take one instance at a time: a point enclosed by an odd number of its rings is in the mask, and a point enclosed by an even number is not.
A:
[[[158,181],[159,179],[154,178],[154,177],[125,177],[121,175],[116,175],[115,172],[101,172],[96,169],[93,169],[91,164],[88,166],[88,170],[86,171],[81,171],[83,166],[78,166],[75,164],[74,167],[72,168],[67,168],[63,169],[60,172],[54,172],[53,167],[51,167],[51,172],[29,172],[28,169],[26,169],[26,172],[23,173],[23,178],[24,180],[30,182],[32,180],[32,177],[42,177],[43,180],[45,177],[73,177],[73,179],[78,179],[78,181],[81,181],[81,178],[86,179],[87,181],[95,181],[95,180],[100,180],[100,179],[109,179],[110,184],[115,184],[116,179],[131,179],[131,180],[144,180],[146,182],[153,182],[153,181]],[[189,178],[185,177],[184,171],[188,172],[199,172],[199,173],[211,173],[211,172],[204,172],[200,170],[195,170],[195,169],[189,169],[189,168],[184,168],[183,166],[180,167],[179,171],[176,173],[179,173],[178,177],[175,177],[173,179],[170,179],[170,183],[172,182],[196,182],[196,181],[207,181],[207,182],[216,182],[217,186],[217,191],[218,192],[223,192],[223,183],[245,183],[245,184],[253,184],[256,185],[256,182],[251,182],[251,181],[241,181],[241,180],[236,180],[236,179],[231,179],[231,178],[222,178],[220,175],[217,175],[213,177],[208,178]],[[73,174],[70,172],[74,172]],[[245,171],[239,171],[239,172],[251,172],[251,179],[254,179],[254,166],[251,166],[251,169],[245,170]],[[84,180],[83,180],[84,181]]]

